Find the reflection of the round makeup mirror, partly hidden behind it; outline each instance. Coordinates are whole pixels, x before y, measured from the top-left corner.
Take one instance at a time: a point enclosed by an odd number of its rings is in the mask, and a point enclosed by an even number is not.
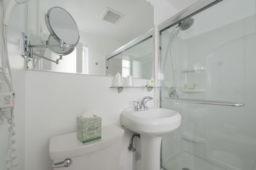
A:
[[[52,37],[52,35],[49,35],[48,37],[48,43],[51,45],[58,45],[58,41],[55,40],[55,38]],[[75,47],[68,47],[66,46],[65,50],[63,51],[59,47],[49,47],[49,50],[52,51],[52,53],[57,54],[57,55],[67,55],[70,54],[74,51]]]

